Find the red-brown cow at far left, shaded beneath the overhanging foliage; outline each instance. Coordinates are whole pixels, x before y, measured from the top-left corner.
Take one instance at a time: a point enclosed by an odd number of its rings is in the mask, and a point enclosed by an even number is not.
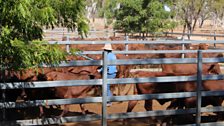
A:
[[[54,72],[68,72],[74,71],[74,68],[38,68],[36,70],[28,69],[22,71],[6,71],[5,76],[1,77],[5,80],[1,80],[2,82],[33,82],[33,81],[45,81],[46,75]],[[82,69],[81,69],[82,70]],[[91,70],[89,70],[91,71]],[[76,71],[78,72],[78,71]],[[80,74],[86,74],[83,71],[79,71]],[[87,73],[90,74],[90,72]],[[0,74],[2,76],[2,74]],[[92,77],[92,75],[89,75]],[[6,78],[7,77],[7,78]],[[1,90],[2,92],[3,90]],[[37,89],[7,89],[4,90],[5,99],[4,101],[16,101],[18,97],[22,98],[21,100],[40,100],[40,99],[47,99],[47,98],[56,98],[55,96],[55,89],[54,88],[37,88]],[[1,99],[2,95],[0,96]],[[40,107],[40,115],[43,116],[43,108]]]

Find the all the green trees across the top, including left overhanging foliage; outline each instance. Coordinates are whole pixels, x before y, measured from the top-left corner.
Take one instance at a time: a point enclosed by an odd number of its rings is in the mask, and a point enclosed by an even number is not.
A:
[[[0,66],[3,70],[57,65],[66,53],[42,40],[43,29],[66,27],[86,37],[87,8],[92,18],[103,17],[106,26],[143,37],[183,26],[192,33],[197,23],[223,26],[223,0],[0,0]],[[168,10],[167,10],[168,8]]]

